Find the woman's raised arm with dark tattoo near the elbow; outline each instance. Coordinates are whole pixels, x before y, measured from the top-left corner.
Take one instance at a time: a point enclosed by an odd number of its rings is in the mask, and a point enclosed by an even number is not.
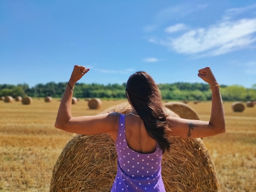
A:
[[[209,85],[218,85],[210,67],[199,70],[198,76]],[[168,136],[175,135],[187,138],[202,138],[225,132],[225,116],[219,87],[212,87],[212,111],[209,122],[168,117],[171,131]]]

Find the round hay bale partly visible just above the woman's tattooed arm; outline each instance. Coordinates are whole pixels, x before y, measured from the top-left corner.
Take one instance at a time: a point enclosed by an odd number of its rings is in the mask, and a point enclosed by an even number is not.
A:
[[[199,116],[196,111],[189,105],[181,102],[169,102],[163,104],[166,108],[170,109],[181,118],[185,119],[196,119],[199,120]]]

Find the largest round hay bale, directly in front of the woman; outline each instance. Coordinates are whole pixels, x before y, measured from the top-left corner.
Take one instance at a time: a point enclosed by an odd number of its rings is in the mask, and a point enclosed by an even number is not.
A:
[[[102,113],[128,114],[131,110],[124,103]],[[162,160],[166,191],[217,192],[216,171],[203,141],[181,137],[171,140],[171,152],[165,153]],[[116,159],[115,144],[108,134],[77,135],[66,144],[54,166],[50,192],[110,192],[117,171]]]

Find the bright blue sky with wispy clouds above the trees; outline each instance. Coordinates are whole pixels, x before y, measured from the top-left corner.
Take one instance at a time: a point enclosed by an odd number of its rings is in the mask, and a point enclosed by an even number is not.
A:
[[[256,83],[255,0],[1,0],[0,84],[124,83],[139,70],[156,83]]]

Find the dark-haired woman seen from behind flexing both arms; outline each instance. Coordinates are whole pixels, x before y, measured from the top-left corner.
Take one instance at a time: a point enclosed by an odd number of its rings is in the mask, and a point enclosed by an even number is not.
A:
[[[137,72],[128,79],[126,95],[132,105],[131,113],[72,117],[73,88],[87,72],[84,66],[75,65],[55,127],[82,135],[111,135],[118,153],[118,171],[111,192],[165,192],[161,159],[170,149],[168,138],[172,135],[201,138],[225,132],[220,85],[209,67],[199,70],[198,74],[212,90],[209,122],[166,116],[159,89],[146,72]]]

